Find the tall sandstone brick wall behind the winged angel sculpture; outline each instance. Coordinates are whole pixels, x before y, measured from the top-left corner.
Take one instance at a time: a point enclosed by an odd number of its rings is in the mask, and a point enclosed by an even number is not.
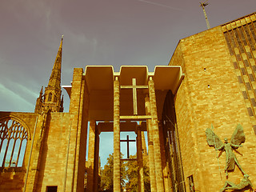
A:
[[[242,156],[235,154],[255,186],[255,134],[222,28],[218,26],[182,39],[170,65],[182,66],[185,73],[175,108],[186,190],[191,174],[199,191],[218,191],[226,181],[226,154],[219,158],[221,178],[214,147],[206,142],[205,130],[211,124],[220,138],[229,140],[237,124],[242,124],[246,143],[238,149]],[[242,173],[236,167],[229,174],[229,181],[238,183],[241,179]]]

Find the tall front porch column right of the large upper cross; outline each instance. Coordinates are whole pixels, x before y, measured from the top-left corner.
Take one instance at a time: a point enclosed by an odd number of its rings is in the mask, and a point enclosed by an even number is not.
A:
[[[154,141],[154,167],[155,167],[155,176],[157,182],[157,190],[165,191],[163,178],[162,178],[162,159],[161,159],[161,149],[160,149],[160,139],[158,131],[158,110],[157,102],[154,91],[154,81],[150,77],[149,80],[149,93],[150,93],[150,110],[151,110],[151,120],[152,120],[152,129],[153,129],[153,141]]]

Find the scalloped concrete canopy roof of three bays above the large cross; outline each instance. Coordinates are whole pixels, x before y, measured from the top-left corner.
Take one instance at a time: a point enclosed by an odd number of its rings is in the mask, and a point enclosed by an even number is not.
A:
[[[86,66],[84,78],[89,91],[89,120],[113,120],[113,86],[114,78],[118,77],[120,86],[131,86],[132,78],[136,78],[137,86],[147,86],[150,77],[154,80],[157,97],[158,118],[162,117],[162,106],[168,90],[176,94],[183,74],[181,66],[155,66],[149,72],[147,66],[121,66],[120,72],[114,72],[113,66]],[[72,86],[62,86],[71,93]],[[145,89],[137,89],[138,115],[145,114]],[[133,114],[132,89],[120,90],[120,115]]]

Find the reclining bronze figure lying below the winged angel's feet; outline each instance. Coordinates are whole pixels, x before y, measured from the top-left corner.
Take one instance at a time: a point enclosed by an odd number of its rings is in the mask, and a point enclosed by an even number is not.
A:
[[[253,184],[250,182],[249,175],[245,174],[241,180],[241,182],[236,185],[233,182],[226,181],[220,192],[223,192],[225,190],[242,190],[246,188],[246,186],[250,186],[250,188],[253,187]]]

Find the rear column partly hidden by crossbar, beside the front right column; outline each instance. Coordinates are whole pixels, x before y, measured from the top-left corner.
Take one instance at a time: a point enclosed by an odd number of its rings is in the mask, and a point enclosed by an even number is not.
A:
[[[146,114],[150,114],[150,98],[146,96],[145,98],[145,109]],[[155,179],[155,170],[154,170],[154,145],[153,145],[153,130],[151,126],[151,119],[146,120],[146,130],[147,130],[147,140],[149,147],[149,162],[148,166],[150,167],[150,190],[151,192],[157,191],[157,184]]]

